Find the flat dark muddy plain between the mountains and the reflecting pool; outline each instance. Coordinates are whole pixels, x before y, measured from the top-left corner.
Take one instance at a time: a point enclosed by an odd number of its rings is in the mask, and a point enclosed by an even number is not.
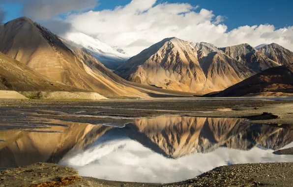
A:
[[[135,118],[165,114],[192,117],[246,118],[255,123],[293,125],[293,100],[15,100],[0,99],[0,116],[17,110],[78,113],[57,120],[125,124]],[[5,111],[5,112],[3,112]],[[50,112],[49,112],[50,113]]]

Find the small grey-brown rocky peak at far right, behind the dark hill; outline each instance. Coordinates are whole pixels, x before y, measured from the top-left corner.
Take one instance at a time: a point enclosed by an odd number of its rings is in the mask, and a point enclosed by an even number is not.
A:
[[[281,65],[293,63],[293,52],[276,43],[265,45],[260,51],[269,59]]]

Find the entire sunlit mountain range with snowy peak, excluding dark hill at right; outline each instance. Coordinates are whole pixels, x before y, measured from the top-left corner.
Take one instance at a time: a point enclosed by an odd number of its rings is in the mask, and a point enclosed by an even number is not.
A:
[[[84,91],[106,97],[220,92],[265,69],[293,62],[293,52],[275,43],[219,48],[176,37],[129,59],[122,49],[97,38],[75,30],[58,36],[26,17],[0,25],[0,52],[1,62],[11,67],[0,73],[1,90]],[[19,68],[23,77],[15,76]]]

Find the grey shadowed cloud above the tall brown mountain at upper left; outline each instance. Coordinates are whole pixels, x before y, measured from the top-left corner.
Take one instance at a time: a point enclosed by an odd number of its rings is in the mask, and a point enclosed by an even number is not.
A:
[[[0,0],[0,3],[21,3],[25,16],[39,20],[93,8],[97,0]]]

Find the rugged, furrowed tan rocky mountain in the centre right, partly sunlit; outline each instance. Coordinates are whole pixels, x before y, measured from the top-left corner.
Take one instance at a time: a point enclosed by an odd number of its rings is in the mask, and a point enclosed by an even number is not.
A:
[[[280,64],[248,44],[217,48],[166,38],[132,57],[116,73],[136,83],[206,94]]]

